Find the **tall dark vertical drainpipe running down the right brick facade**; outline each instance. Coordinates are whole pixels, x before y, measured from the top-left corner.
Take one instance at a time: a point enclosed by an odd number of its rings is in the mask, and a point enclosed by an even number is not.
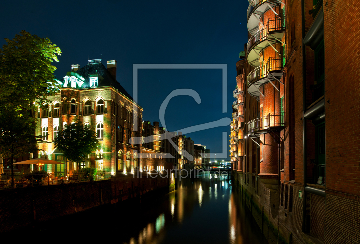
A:
[[[305,37],[305,1],[301,0],[301,25],[302,25],[302,39]],[[306,111],[306,53],[305,45],[302,45],[302,104],[303,112]],[[306,118],[302,118],[302,146],[303,146],[303,199],[302,199],[302,231],[306,232]]]

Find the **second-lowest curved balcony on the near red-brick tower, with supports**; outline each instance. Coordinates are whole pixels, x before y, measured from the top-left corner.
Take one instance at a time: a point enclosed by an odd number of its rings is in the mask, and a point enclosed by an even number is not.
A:
[[[282,57],[271,57],[267,60],[267,62],[253,71],[251,71],[247,76],[248,81],[248,93],[259,99],[260,94],[260,87],[271,83],[276,90],[279,90],[275,85],[275,81],[280,82],[280,78],[283,75],[283,61]]]

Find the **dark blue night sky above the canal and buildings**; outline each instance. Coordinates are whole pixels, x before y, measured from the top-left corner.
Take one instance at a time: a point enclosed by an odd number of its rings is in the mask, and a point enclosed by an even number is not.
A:
[[[117,80],[132,95],[133,64],[227,64],[228,113],[222,113],[222,75],[214,70],[139,70],[143,119],[159,121],[159,107],[174,89],[199,93],[201,103],[178,96],[167,106],[167,130],[231,117],[239,52],[247,42],[246,10],[240,1],[2,1],[3,38],[21,30],[49,37],[61,48],[55,74],[62,78],[72,64],[87,59],[117,60]],[[195,144],[221,153],[217,127],[188,134]],[[228,140],[228,137],[227,137]],[[229,147],[226,148],[226,152]]]

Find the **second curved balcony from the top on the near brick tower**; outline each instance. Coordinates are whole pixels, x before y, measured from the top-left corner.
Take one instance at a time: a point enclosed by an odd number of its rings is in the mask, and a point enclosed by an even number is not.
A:
[[[285,34],[285,17],[270,18],[262,29],[258,30],[250,37],[247,43],[248,56],[247,60],[250,65],[258,67],[260,65],[260,54],[266,47],[273,47],[273,44],[283,43],[282,39]],[[280,53],[279,53],[280,55]]]

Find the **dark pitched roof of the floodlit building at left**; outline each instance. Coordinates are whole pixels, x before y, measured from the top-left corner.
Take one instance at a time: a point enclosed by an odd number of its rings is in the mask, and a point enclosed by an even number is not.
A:
[[[113,86],[115,89],[117,89],[119,92],[124,94],[127,98],[132,100],[132,97],[129,93],[126,92],[126,90],[118,83],[110,74],[110,72],[107,70],[107,68],[103,64],[88,64],[76,72],[77,74],[81,75],[85,80],[84,84],[81,85],[80,89],[90,88],[90,74],[98,73],[98,75],[102,76],[104,79],[99,79],[98,86]]]

